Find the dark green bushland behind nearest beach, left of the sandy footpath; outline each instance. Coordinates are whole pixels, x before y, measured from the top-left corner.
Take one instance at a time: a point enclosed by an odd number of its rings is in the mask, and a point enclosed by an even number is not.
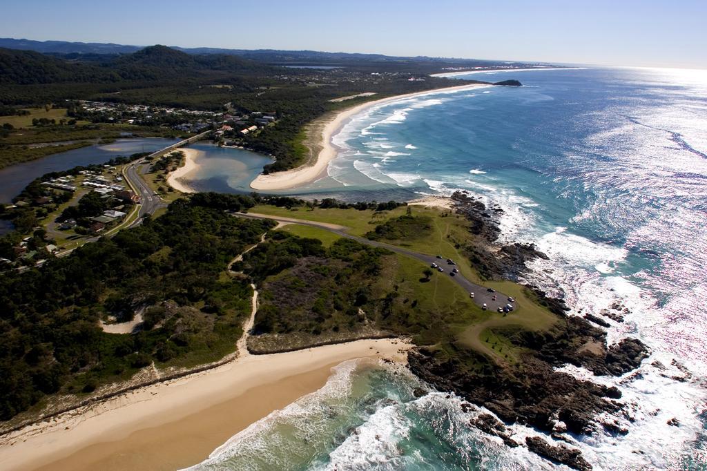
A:
[[[91,392],[151,364],[191,366],[235,349],[250,313],[245,279],[228,262],[271,221],[238,219],[250,198],[204,195],[160,218],[86,244],[69,257],[0,277],[0,419],[55,392]],[[134,335],[106,333],[101,320],[144,323]]]

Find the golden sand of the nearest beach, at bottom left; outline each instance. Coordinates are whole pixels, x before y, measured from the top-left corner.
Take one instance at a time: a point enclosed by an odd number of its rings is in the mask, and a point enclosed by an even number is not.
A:
[[[320,389],[357,358],[404,363],[409,344],[359,340],[248,355],[148,386],[3,437],[4,470],[174,470],[200,463],[228,438]]]

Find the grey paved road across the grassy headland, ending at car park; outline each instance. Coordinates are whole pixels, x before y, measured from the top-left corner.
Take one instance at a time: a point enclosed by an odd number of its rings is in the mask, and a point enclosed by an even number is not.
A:
[[[414,252],[413,250],[408,250],[406,248],[397,247],[395,245],[378,242],[377,240],[368,240],[363,237],[352,236],[351,234],[346,232],[347,228],[345,228],[344,226],[337,226],[336,224],[320,223],[316,221],[305,221],[304,219],[294,219],[282,216],[269,216],[267,214],[258,213],[236,213],[234,215],[252,219],[272,219],[274,221],[279,222],[296,223],[302,226],[312,226],[320,229],[325,229],[326,231],[333,232],[341,237],[353,239],[366,245],[386,248],[387,250],[391,250],[392,252],[397,252],[402,255],[407,255],[408,257],[416,258],[417,260],[420,260],[428,266],[431,266],[431,264],[436,263],[444,269],[444,272],[437,272],[435,270],[435,275],[433,276],[450,277],[458,285],[462,286],[462,288],[464,288],[467,293],[474,293],[474,302],[477,303],[479,306],[483,306],[484,303],[486,303],[486,306],[488,306],[489,310],[496,312],[499,307],[503,307],[508,304],[508,296],[506,296],[505,294],[489,293],[489,291],[486,291],[486,287],[469,281],[468,279],[464,278],[461,273],[452,275],[452,269],[455,266],[449,264],[446,259],[438,259],[435,255],[427,255],[420,252]],[[494,295],[496,295],[496,301],[493,300]],[[513,303],[513,305],[515,306],[515,303]]]

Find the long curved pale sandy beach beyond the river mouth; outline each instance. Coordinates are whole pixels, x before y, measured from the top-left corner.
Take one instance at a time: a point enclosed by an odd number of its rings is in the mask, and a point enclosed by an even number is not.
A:
[[[332,144],[332,136],[337,134],[337,132],[339,132],[339,130],[344,127],[349,120],[351,120],[351,117],[359,112],[367,110],[370,107],[384,105],[385,103],[390,103],[403,98],[413,98],[415,96],[429,95],[431,93],[450,93],[486,86],[487,85],[472,83],[448,88],[438,88],[436,90],[407,93],[405,95],[395,95],[347,108],[346,110],[329,117],[324,127],[322,127],[320,141],[320,147],[322,150],[317,155],[315,162],[310,162],[293,170],[286,170],[285,172],[272,173],[270,175],[258,175],[255,180],[250,182],[250,187],[254,190],[262,191],[290,190],[327,176],[329,161],[332,161],[332,159],[337,156],[337,152],[339,151],[337,146]]]

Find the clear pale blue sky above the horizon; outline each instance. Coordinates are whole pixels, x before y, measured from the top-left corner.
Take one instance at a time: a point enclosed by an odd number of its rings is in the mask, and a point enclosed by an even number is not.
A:
[[[0,36],[707,69],[707,0],[23,0]]]

